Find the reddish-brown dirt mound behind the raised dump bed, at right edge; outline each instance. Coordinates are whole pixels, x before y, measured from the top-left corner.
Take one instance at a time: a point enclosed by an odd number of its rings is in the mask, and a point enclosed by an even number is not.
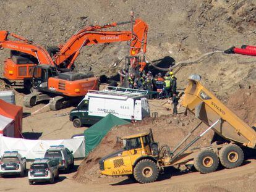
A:
[[[239,89],[229,96],[227,104],[237,116],[250,126],[256,123],[256,88]]]

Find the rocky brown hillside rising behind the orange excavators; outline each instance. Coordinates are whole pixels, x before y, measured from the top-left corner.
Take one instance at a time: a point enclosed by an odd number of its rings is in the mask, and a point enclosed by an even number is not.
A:
[[[103,25],[136,17],[148,23],[147,55],[160,66],[194,59],[205,52],[256,44],[256,6],[254,0],[164,0],[164,1],[0,1],[1,30],[32,39],[43,46],[64,44],[82,25]],[[129,25],[113,30],[129,30]],[[95,75],[116,75],[124,65],[126,43],[85,47],[77,59],[79,70]],[[0,62],[9,56],[1,51]],[[117,64],[115,67],[114,64]],[[200,73],[204,83],[223,99],[237,86],[255,86],[255,58],[216,54],[200,64],[177,73],[178,86],[184,88],[190,73]]]

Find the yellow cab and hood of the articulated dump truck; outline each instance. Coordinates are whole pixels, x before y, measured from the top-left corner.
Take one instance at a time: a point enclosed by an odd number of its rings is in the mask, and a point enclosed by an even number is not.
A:
[[[151,133],[140,133],[121,138],[124,148],[103,157],[99,161],[100,173],[103,175],[132,175],[139,162],[155,162],[158,157],[158,143],[153,141]],[[150,178],[156,167],[147,167],[141,174]],[[156,168],[158,169],[158,168]]]

